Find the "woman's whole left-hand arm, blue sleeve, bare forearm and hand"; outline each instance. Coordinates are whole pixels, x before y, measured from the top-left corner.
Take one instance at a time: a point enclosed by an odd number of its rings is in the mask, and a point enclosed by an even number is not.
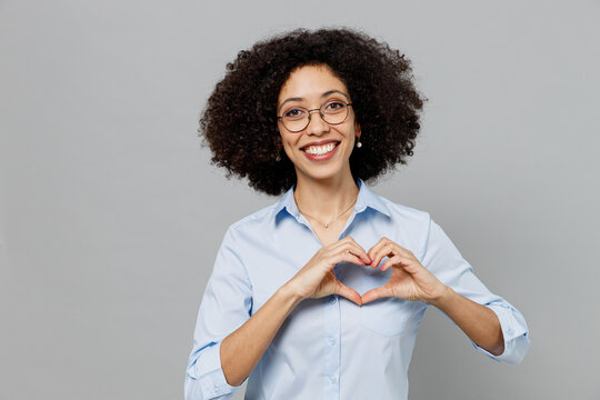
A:
[[[187,400],[231,398],[302,299],[336,293],[360,302],[360,294],[333,273],[341,261],[367,263],[354,256],[367,260],[364,250],[348,237],[321,248],[250,317],[252,286],[238,251],[240,240],[234,229],[227,231],[207,283],[186,373]]]

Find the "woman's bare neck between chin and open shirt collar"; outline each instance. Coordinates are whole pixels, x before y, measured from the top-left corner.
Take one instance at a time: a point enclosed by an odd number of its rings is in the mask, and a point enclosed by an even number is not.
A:
[[[298,208],[322,221],[338,217],[354,202],[359,193],[350,171],[323,180],[306,179],[301,174],[297,177],[293,196]]]

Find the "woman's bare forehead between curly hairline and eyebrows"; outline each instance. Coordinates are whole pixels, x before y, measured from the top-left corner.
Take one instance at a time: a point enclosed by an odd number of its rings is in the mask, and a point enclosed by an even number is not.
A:
[[[348,93],[346,84],[327,66],[304,66],[293,70],[281,86],[278,102],[287,98],[307,100],[320,98],[328,90],[341,90]]]

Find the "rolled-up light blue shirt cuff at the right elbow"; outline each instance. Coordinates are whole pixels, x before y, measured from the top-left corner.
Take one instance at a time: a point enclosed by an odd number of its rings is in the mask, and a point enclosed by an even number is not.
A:
[[[498,316],[502,336],[504,337],[504,351],[499,356],[494,356],[477,346],[473,341],[471,341],[471,344],[477,351],[482,352],[494,361],[513,364],[520,363],[530,343],[529,329],[523,316],[508,303],[491,303],[486,304],[486,307]]]

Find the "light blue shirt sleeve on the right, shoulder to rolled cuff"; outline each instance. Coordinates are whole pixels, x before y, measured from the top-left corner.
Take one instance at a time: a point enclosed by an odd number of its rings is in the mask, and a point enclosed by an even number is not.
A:
[[[522,361],[530,342],[524,317],[508,301],[486,288],[450,238],[431,218],[429,218],[429,232],[421,263],[457,293],[488,307],[498,316],[504,337],[504,351],[499,356],[493,356],[470,340],[477,351],[496,361],[507,363]]]

